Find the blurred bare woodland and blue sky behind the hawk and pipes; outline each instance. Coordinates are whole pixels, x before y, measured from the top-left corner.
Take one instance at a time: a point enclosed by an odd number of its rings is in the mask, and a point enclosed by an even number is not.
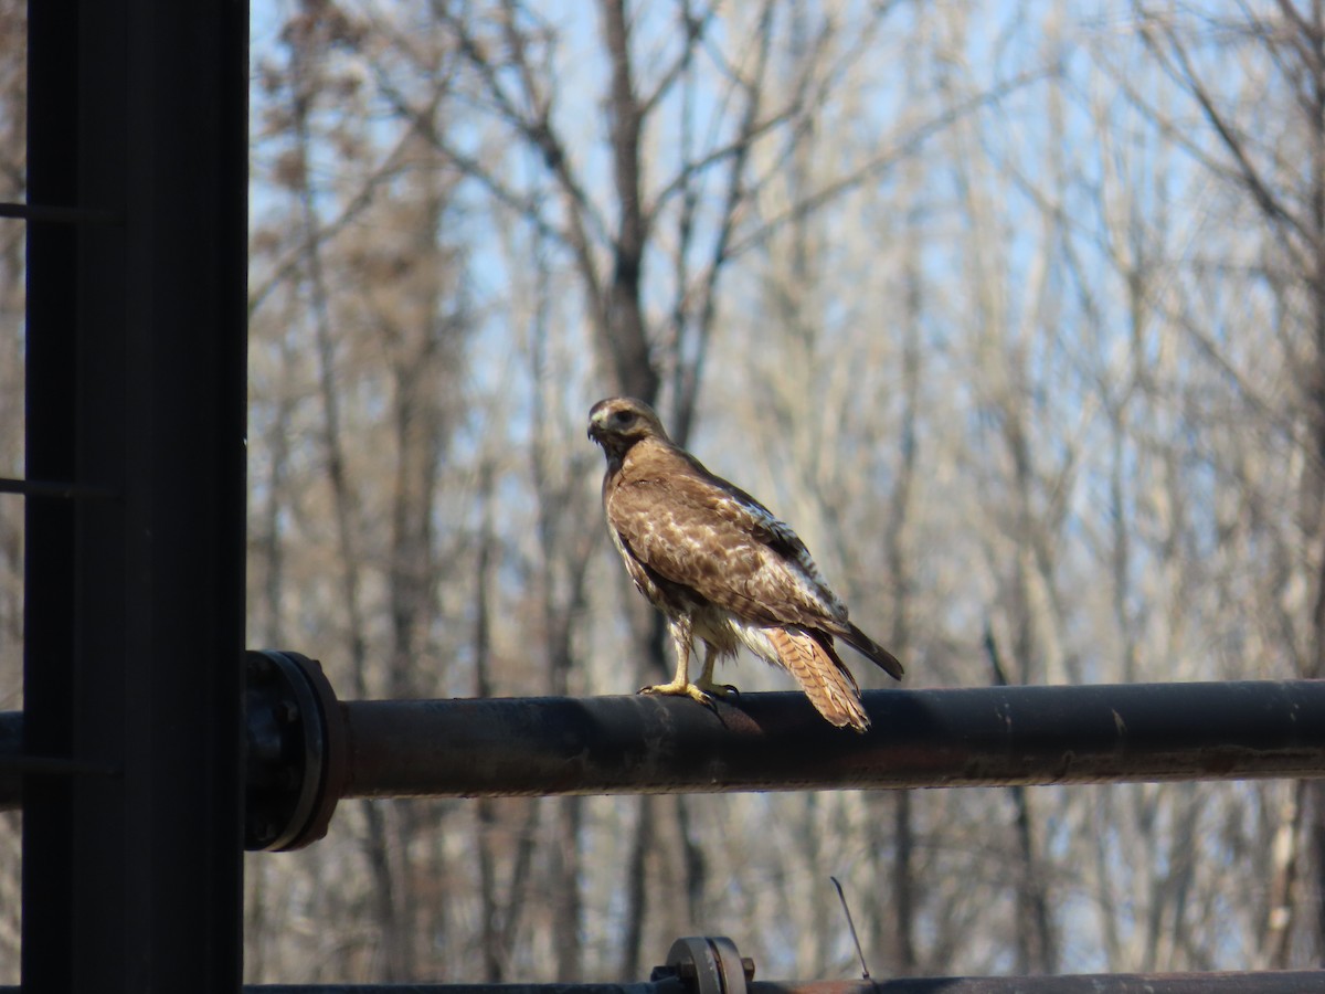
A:
[[[665,676],[584,439],[613,392],[792,522],[912,687],[1322,676],[1318,0],[260,0],[250,98],[248,643],[342,697]],[[0,500],[4,709],[21,565]],[[633,981],[722,933],[848,977],[831,873],[880,975],[1325,957],[1325,790],[1264,782],[344,803],[249,856],[245,971]]]

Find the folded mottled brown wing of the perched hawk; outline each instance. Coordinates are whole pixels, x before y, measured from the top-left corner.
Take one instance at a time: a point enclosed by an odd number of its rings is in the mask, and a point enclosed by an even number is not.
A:
[[[607,513],[648,570],[759,624],[855,627],[796,534],[716,477],[672,472],[623,480]]]

